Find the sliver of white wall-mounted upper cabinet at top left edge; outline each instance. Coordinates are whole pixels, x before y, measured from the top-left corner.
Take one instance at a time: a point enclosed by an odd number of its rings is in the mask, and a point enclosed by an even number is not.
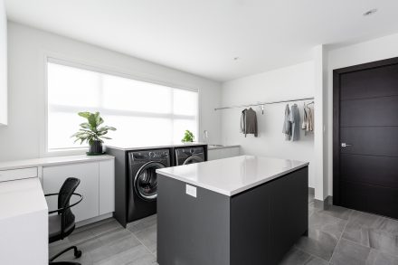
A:
[[[7,18],[0,0],[0,127],[7,124]]]

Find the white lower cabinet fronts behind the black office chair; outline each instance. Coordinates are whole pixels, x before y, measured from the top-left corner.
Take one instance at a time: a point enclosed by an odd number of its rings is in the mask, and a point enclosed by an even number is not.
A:
[[[76,177],[81,184],[75,193],[82,194],[83,200],[72,208],[76,222],[112,213],[115,208],[114,161],[43,166],[43,190],[45,194],[58,193],[68,177]],[[72,196],[71,203],[77,196]],[[57,196],[47,197],[49,209],[57,209]]]

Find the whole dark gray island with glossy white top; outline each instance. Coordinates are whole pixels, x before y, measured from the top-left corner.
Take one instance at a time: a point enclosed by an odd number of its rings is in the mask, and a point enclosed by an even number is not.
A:
[[[308,233],[308,163],[235,156],[156,172],[160,265],[277,264]]]

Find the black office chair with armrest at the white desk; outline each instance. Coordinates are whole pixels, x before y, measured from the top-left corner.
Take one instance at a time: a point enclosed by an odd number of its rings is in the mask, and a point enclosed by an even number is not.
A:
[[[75,216],[71,213],[71,207],[75,206],[78,203],[81,203],[83,196],[81,194],[75,194],[74,191],[80,185],[81,180],[74,177],[69,177],[63,183],[59,194],[45,194],[45,196],[53,196],[58,195],[58,209],[50,211],[49,214],[58,213],[56,215],[49,216],[49,242],[52,243],[54,241],[63,240],[65,237],[69,236],[71,232],[73,232],[75,228]],[[79,201],[70,205],[71,195],[77,195],[80,197]],[[60,253],[53,256],[49,262],[50,264],[70,264],[70,265],[81,265],[78,262],[52,262],[56,258],[60,257],[63,253],[67,251],[74,251],[74,256],[76,258],[81,257],[81,251],[78,250],[76,246],[71,246],[66,250],[61,251]]]

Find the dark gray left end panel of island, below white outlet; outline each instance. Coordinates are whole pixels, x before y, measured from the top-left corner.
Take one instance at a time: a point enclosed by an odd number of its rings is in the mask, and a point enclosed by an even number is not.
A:
[[[157,176],[157,260],[161,265],[230,264],[230,197]]]

